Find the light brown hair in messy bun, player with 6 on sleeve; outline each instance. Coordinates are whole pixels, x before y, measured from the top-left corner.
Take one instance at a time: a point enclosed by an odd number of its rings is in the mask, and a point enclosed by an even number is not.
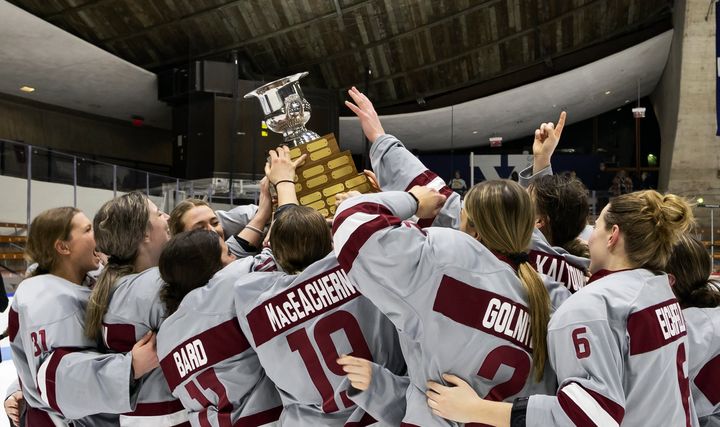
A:
[[[694,223],[690,205],[674,194],[637,191],[613,198],[605,211],[605,229],[617,225],[625,235],[628,260],[637,267],[662,271],[672,248]]]

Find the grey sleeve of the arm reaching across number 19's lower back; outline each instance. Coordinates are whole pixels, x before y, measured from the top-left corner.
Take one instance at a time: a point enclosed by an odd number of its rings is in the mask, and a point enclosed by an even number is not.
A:
[[[348,397],[373,418],[386,425],[402,423],[407,407],[405,393],[410,377],[395,375],[377,363],[372,363],[372,380],[367,390],[360,391],[349,386]]]

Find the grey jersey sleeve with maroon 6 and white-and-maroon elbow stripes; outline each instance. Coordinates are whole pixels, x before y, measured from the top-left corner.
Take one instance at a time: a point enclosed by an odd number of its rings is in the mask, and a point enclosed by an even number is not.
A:
[[[563,313],[567,319],[568,313]],[[564,322],[548,331],[548,356],[560,388],[534,395],[527,426],[619,426],[625,414],[622,352],[606,319]]]

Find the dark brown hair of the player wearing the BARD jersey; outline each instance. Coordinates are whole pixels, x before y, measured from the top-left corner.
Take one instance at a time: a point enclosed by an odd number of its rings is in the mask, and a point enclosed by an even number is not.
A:
[[[165,284],[160,300],[167,316],[193,289],[204,286],[222,268],[220,236],[214,231],[190,230],[173,236],[160,254],[158,267]]]

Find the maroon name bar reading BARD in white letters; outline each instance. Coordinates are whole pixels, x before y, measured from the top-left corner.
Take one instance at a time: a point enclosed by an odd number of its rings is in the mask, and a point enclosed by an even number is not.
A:
[[[188,351],[192,348],[191,351]],[[165,379],[174,390],[192,374],[236,356],[250,348],[250,344],[240,329],[236,318],[207,329],[172,349],[160,361]],[[204,357],[196,354],[198,350]],[[188,357],[193,353],[195,357]],[[205,359],[202,363],[198,361]],[[179,366],[182,365],[182,368]],[[182,372],[181,369],[185,372]]]

